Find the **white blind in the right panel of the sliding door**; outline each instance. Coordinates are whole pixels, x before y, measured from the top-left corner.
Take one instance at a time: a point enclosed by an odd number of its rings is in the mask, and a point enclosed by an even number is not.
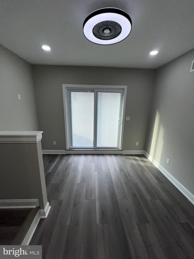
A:
[[[98,92],[97,147],[117,147],[121,93]]]

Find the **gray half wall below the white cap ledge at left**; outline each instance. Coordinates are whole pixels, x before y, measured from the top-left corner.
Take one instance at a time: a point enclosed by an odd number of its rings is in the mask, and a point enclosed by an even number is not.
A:
[[[0,199],[38,199],[44,209],[47,193],[41,141],[0,143],[0,164]]]

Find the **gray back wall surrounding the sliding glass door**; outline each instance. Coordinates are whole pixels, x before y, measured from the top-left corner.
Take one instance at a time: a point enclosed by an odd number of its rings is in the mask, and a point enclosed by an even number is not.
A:
[[[65,149],[62,84],[93,84],[127,85],[125,116],[130,121],[125,121],[123,150],[144,150],[155,70],[52,65],[32,69],[43,149]]]

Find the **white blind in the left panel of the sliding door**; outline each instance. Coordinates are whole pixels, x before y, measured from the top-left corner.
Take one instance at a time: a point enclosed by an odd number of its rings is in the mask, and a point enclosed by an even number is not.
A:
[[[94,93],[71,92],[72,145],[93,147]]]

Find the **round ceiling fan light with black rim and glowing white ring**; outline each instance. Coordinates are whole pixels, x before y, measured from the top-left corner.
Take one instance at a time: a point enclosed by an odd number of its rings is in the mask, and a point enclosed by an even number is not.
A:
[[[124,40],[131,32],[130,16],[117,8],[102,8],[88,15],[83,32],[89,41],[99,45],[111,45]]]

